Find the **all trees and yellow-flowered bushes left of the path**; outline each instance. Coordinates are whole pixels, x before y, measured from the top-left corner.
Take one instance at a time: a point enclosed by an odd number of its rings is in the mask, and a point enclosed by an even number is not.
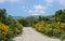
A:
[[[23,26],[6,10],[0,9],[0,41],[12,41],[11,38],[22,33]]]

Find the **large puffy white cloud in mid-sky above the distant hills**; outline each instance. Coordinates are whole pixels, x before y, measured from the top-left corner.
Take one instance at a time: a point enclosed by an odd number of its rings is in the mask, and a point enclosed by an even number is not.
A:
[[[29,13],[30,15],[42,15],[42,14],[46,13],[46,12],[44,12],[46,9],[47,9],[46,6],[43,6],[43,5],[41,5],[41,4],[38,4],[38,5],[35,5],[35,6],[34,6],[34,10],[29,10],[28,13]]]

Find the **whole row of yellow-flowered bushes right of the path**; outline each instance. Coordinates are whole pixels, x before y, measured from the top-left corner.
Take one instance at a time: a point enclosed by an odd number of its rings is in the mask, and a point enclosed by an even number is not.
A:
[[[58,37],[62,31],[65,31],[65,23],[53,22],[51,24],[47,24],[44,22],[40,22],[35,25],[35,28],[44,35]]]

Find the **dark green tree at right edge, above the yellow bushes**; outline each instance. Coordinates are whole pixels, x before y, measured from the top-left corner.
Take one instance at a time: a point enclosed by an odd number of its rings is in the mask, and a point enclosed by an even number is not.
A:
[[[57,22],[65,23],[65,10],[56,11],[55,18],[56,18]]]

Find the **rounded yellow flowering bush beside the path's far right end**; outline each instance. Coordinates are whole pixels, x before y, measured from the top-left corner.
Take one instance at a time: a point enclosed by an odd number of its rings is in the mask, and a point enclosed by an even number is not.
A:
[[[44,32],[44,33],[48,35],[48,33],[52,30],[52,28],[49,27],[49,26],[50,26],[50,25],[47,25],[44,22],[40,22],[40,23],[38,23],[38,24],[35,25],[35,28],[36,28],[38,31]]]

